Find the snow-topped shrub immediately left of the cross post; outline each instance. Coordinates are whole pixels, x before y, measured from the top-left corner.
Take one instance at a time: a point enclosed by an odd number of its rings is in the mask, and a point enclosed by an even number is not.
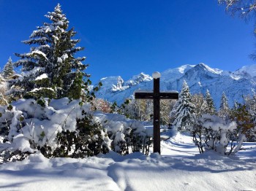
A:
[[[131,120],[121,114],[96,112],[94,120],[102,124],[112,141],[111,149],[121,155],[143,152],[148,155],[151,133],[138,120]]]

